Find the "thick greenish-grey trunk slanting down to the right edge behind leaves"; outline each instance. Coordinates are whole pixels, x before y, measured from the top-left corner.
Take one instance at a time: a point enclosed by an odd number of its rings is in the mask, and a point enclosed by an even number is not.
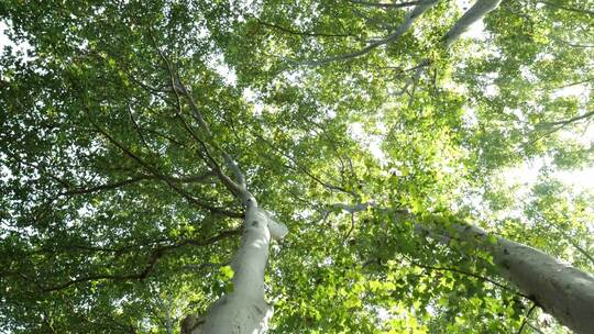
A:
[[[594,333],[593,275],[527,245],[488,235],[473,225],[453,225],[448,232],[429,233],[429,236],[440,241],[455,238],[484,249],[493,256],[501,275],[544,312],[576,333]]]

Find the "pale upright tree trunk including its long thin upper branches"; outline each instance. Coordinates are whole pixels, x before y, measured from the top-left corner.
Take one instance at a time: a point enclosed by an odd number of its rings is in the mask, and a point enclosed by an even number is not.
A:
[[[233,269],[233,290],[219,298],[210,305],[206,315],[190,314],[182,321],[183,334],[263,334],[268,330],[268,320],[273,308],[264,300],[264,270],[268,261],[268,246],[271,238],[280,240],[287,233],[287,226],[277,222],[265,210],[258,207],[255,197],[248,190],[245,176],[233,160],[231,155],[219,146],[215,136],[205,122],[198,104],[194,101],[190,91],[178,80],[173,70],[172,88],[176,93],[186,97],[194,119],[198,122],[202,136],[218,151],[227,168],[234,179],[224,174],[212,157],[205,153],[205,163],[221,183],[245,208],[243,235],[241,246],[233,255],[231,268]],[[182,119],[183,120],[183,119]],[[207,147],[204,140],[187,124],[186,129],[202,147]]]

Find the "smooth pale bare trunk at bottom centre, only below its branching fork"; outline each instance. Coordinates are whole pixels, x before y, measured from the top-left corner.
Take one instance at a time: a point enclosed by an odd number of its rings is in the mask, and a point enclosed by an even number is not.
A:
[[[233,256],[233,291],[219,298],[202,318],[188,316],[184,334],[261,334],[268,330],[273,308],[264,300],[264,271],[271,238],[280,240],[287,227],[248,200],[241,246]]]

